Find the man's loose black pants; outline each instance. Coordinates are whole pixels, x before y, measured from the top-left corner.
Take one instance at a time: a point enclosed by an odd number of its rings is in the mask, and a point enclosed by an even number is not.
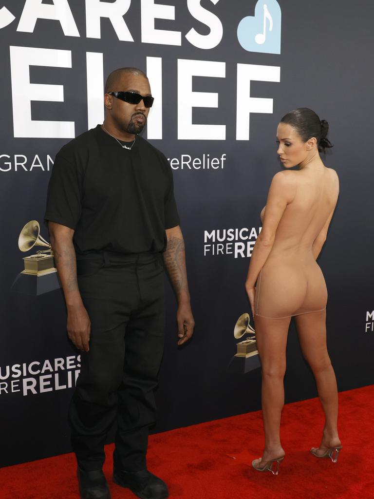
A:
[[[161,255],[78,257],[77,274],[91,320],[90,350],[81,355],[69,410],[78,466],[84,471],[102,468],[106,436],[117,418],[114,466],[140,471],[146,468],[164,349]]]

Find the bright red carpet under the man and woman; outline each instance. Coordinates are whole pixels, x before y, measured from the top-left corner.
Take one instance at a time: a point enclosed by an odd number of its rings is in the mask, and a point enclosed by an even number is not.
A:
[[[374,386],[342,392],[339,400],[343,450],[337,464],[308,452],[318,446],[323,425],[319,402],[312,399],[284,408],[286,457],[277,477],[238,462],[260,456],[261,412],[153,435],[148,467],[167,482],[171,499],[374,498]],[[104,468],[112,498],[134,499],[111,482],[112,451],[107,446]],[[234,461],[228,454],[242,459]],[[74,474],[71,454],[3,468],[0,498],[76,499]]]

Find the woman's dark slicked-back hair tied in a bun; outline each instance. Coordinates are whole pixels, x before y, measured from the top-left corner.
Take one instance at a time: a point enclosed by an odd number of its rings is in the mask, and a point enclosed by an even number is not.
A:
[[[308,107],[298,107],[290,111],[281,119],[281,123],[287,123],[295,128],[302,140],[306,142],[311,137],[316,137],[319,152],[326,152],[326,149],[333,147],[327,134],[329,124],[326,120],[320,120],[318,115]]]

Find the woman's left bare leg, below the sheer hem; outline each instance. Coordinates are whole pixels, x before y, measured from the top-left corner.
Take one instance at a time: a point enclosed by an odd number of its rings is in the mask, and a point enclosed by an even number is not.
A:
[[[284,455],[279,427],[284,405],[283,378],[286,371],[286,344],[290,317],[269,319],[255,316],[258,353],[262,366],[262,417],[265,449],[256,465]]]

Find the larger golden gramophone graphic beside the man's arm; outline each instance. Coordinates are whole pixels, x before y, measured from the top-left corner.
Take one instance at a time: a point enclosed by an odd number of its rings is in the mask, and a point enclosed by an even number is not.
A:
[[[12,291],[39,295],[61,287],[54,266],[52,247],[40,236],[39,223],[31,220],[21,230],[18,248],[21,251],[29,251],[36,246],[47,249],[38,250],[35,254],[23,258],[24,270],[15,278]]]

